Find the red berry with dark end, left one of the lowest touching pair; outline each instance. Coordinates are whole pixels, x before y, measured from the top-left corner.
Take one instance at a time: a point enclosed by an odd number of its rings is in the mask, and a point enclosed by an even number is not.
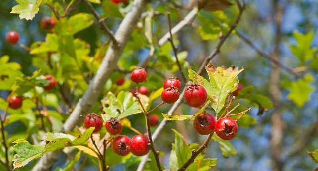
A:
[[[111,143],[113,151],[120,155],[125,156],[131,152],[131,140],[125,135],[119,135]]]

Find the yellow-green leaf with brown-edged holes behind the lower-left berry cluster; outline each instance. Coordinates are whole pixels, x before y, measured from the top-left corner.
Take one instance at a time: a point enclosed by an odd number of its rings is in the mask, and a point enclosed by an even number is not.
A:
[[[112,92],[108,92],[101,102],[105,113],[102,114],[104,120],[109,120],[112,117],[121,119],[141,113],[137,99],[130,92],[121,91],[117,97]]]

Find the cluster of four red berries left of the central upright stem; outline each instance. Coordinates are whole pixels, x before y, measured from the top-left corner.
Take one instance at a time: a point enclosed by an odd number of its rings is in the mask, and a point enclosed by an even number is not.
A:
[[[93,133],[97,133],[103,126],[102,118],[95,114],[87,114],[84,119],[85,128],[94,127]],[[122,123],[117,118],[111,118],[106,121],[105,128],[111,135],[117,135],[122,130]],[[136,135],[132,139],[125,135],[119,135],[112,141],[113,151],[121,156],[132,152],[136,156],[144,156],[149,152],[149,140],[146,136]]]

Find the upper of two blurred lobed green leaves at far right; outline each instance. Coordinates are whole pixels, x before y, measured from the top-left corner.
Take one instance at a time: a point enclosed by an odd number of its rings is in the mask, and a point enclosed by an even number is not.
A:
[[[314,39],[314,33],[308,32],[306,34],[295,31],[293,36],[296,39],[297,45],[290,45],[289,48],[298,59],[304,63],[305,61],[314,57],[317,48],[311,48]]]

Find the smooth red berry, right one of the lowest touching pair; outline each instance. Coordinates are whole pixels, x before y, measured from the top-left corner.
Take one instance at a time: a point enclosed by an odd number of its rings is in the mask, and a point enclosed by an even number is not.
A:
[[[136,135],[131,139],[131,152],[136,156],[145,156],[149,152],[149,140],[144,135]]]

